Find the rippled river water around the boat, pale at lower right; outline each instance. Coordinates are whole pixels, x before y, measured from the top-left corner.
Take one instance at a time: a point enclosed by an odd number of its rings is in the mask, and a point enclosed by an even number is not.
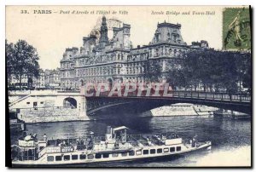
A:
[[[198,140],[212,140],[212,152],[194,153],[178,158],[166,158],[158,161],[102,163],[93,166],[108,167],[176,167],[176,166],[219,166],[250,165],[251,161],[251,121],[213,117],[154,117],[138,118],[129,113],[119,118],[61,123],[27,124],[27,133],[37,133],[38,138],[45,134],[49,138],[55,133],[75,133],[93,131],[95,135],[104,135],[108,125],[113,128],[121,125],[128,127],[131,133],[170,132],[183,138],[195,134]],[[85,166],[85,165],[84,165]]]

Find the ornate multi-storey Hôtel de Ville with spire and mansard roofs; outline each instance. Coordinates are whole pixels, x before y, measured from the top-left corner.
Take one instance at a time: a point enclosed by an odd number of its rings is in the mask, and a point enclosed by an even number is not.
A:
[[[181,25],[158,23],[152,42],[133,48],[131,25],[114,21],[108,26],[105,16],[98,29],[83,37],[83,46],[66,49],[61,59],[61,89],[79,89],[85,83],[142,83],[143,63],[156,60],[162,72],[167,63],[182,58],[188,49],[208,49],[207,41],[187,45],[181,35]],[[111,29],[109,29],[111,27]],[[113,31],[113,37],[108,32]],[[164,78],[163,78],[164,79]]]

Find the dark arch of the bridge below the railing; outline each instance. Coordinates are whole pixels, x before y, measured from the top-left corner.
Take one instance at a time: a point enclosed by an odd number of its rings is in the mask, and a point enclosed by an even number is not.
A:
[[[108,103],[104,103],[108,102]],[[172,105],[176,103],[189,103],[194,105],[212,106],[221,109],[228,109],[236,112],[244,112],[251,114],[251,102],[240,100],[212,100],[212,99],[200,99],[189,97],[177,97],[172,98],[154,98],[154,97],[91,97],[87,98],[88,106],[87,112],[96,112],[103,108],[111,106],[117,106],[121,104],[130,104],[131,109],[137,111],[148,111],[155,107]],[[127,106],[128,107],[128,106]]]

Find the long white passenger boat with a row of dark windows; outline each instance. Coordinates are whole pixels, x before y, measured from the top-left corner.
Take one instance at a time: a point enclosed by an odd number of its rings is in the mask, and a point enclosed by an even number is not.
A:
[[[131,161],[143,158],[210,151],[211,141],[199,142],[194,137],[183,140],[171,134],[127,135],[125,126],[108,126],[105,136],[94,133],[57,134],[58,139],[37,140],[31,135],[12,146],[13,166],[60,166],[77,163]]]

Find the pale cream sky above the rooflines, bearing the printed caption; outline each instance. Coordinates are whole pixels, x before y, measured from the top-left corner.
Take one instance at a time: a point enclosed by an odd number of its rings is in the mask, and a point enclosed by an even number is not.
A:
[[[51,10],[51,14],[38,14],[42,10]],[[82,46],[83,37],[102,18],[99,11],[110,11],[111,14],[105,14],[107,19],[115,18],[131,25],[133,47],[148,44],[157,23],[166,20],[182,25],[186,43],[207,40],[211,48],[222,49],[223,10],[223,6],[7,6],[6,38],[9,43],[26,40],[38,50],[40,67],[55,69],[60,67],[66,48]]]

